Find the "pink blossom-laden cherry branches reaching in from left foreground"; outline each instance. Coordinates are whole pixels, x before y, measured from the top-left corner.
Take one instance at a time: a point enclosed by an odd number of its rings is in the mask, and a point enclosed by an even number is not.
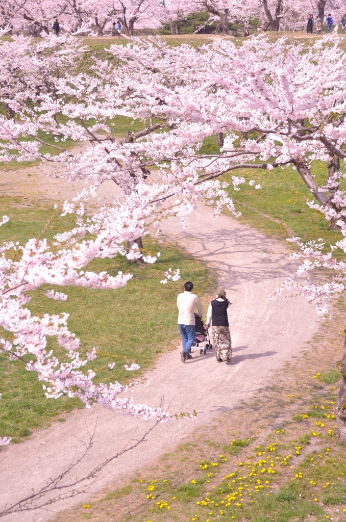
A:
[[[157,191],[154,193],[158,194]],[[56,208],[56,212],[62,212],[62,216],[74,214],[76,227],[56,235],[54,244],[38,238],[23,245],[7,242],[1,246],[0,325],[4,334],[0,339],[0,349],[7,352],[10,359],[24,362],[28,371],[37,373],[47,398],[77,396],[88,407],[98,403],[146,420],[168,420],[168,414],[160,408],[148,408],[134,404],[128,398],[119,398],[119,393],[126,389],[119,383],[93,383],[93,370],[82,370],[96,358],[96,348],[86,349],[80,345],[80,340],[67,327],[68,314],[37,316],[27,307],[30,301],[28,291],[41,288],[43,284],[99,289],[123,287],[131,279],[131,274],[97,274],[88,270],[87,265],[95,258],[114,257],[118,253],[125,255],[122,243],[143,233],[144,220],[156,210],[156,205],[148,205],[149,199],[142,198],[141,208],[136,205],[135,211],[131,211],[124,200],[98,212],[91,219],[84,219],[83,205],[75,207],[66,202],[62,209]],[[7,221],[4,216],[2,225],[6,226]],[[85,235],[94,239],[83,240]],[[60,246],[59,250],[57,246]],[[128,258],[135,256],[133,250]],[[147,263],[153,263],[155,259],[153,256],[143,257]],[[179,276],[174,274],[171,278],[175,280],[176,277]],[[54,290],[46,291],[45,296],[48,299],[67,299],[66,294]],[[48,348],[50,338],[65,349],[65,357],[57,358],[54,350]],[[25,355],[31,359],[25,359]],[[134,365],[129,370],[138,367]],[[6,437],[0,441],[1,444],[8,442]]]

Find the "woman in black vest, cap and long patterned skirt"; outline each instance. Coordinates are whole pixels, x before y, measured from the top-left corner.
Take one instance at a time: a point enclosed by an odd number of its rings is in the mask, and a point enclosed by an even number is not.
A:
[[[216,299],[209,305],[206,325],[212,324],[212,334],[217,362],[230,361],[232,357],[232,341],[230,340],[227,308],[231,303],[226,299],[223,288],[217,290]]]

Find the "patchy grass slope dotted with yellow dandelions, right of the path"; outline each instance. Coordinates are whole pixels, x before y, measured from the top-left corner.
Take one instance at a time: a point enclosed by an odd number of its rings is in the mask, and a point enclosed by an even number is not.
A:
[[[346,520],[346,447],[333,404],[345,305],[272,385],[120,488],[55,522],[322,522]]]

